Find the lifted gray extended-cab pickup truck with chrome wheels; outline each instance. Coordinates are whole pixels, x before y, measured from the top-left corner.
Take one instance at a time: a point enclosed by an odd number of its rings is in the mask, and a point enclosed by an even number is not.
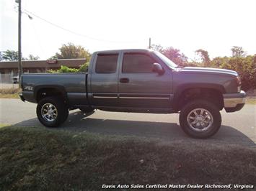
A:
[[[88,73],[25,74],[22,101],[37,103],[37,117],[61,125],[69,110],[180,113],[180,126],[194,138],[213,136],[220,111],[239,111],[246,94],[232,70],[180,68],[151,50],[94,52]]]

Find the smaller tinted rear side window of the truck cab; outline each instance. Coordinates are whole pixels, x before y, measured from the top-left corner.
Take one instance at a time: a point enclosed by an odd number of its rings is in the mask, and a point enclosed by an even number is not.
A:
[[[104,54],[97,55],[96,73],[115,73],[118,65],[118,54]]]

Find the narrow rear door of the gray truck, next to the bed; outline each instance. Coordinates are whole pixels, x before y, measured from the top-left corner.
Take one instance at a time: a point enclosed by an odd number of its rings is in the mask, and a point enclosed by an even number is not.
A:
[[[91,75],[92,105],[118,106],[119,52],[98,53]]]

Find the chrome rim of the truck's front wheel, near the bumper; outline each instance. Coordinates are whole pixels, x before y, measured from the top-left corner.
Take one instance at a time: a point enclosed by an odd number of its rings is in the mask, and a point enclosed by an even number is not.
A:
[[[187,124],[194,131],[206,131],[213,124],[213,116],[204,108],[195,108],[188,113]]]

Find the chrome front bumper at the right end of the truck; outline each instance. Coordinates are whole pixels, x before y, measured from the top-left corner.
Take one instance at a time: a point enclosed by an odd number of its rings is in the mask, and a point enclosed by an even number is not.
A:
[[[223,98],[226,112],[239,111],[244,107],[246,93],[243,90],[239,93],[224,93]]]

